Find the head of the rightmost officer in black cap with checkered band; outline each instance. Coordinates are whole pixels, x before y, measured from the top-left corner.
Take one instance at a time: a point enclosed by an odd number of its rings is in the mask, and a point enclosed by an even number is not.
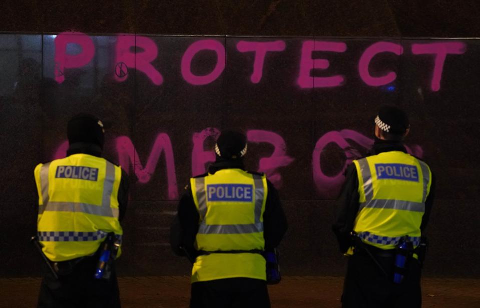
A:
[[[385,104],[380,107],[375,117],[379,135],[385,140],[401,141],[410,129],[408,115],[397,106]]]

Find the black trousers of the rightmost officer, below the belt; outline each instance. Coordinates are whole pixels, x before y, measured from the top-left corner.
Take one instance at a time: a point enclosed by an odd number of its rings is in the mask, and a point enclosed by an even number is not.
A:
[[[370,251],[375,250],[369,249]],[[400,284],[393,282],[394,256],[378,256],[376,260],[388,277],[364,251],[356,249],[349,257],[343,287],[343,308],[417,308],[421,306],[420,265],[411,258]]]

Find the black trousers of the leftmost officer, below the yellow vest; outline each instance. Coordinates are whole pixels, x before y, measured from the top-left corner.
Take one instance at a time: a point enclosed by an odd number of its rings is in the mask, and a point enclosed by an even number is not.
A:
[[[115,268],[110,280],[94,278],[98,255],[85,257],[69,274],[53,274],[42,263],[39,308],[120,308],[120,293]]]

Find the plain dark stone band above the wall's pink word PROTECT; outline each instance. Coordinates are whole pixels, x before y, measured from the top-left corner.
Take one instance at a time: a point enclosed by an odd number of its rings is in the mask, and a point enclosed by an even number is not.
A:
[[[480,3],[448,0],[5,0],[0,30],[471,37]]]

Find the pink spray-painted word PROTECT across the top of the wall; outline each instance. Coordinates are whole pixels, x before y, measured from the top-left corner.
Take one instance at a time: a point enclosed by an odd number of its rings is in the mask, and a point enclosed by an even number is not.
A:
[[[67,54],[67,45],[77,44],[82,48],[78,54]],[[143,51],[132,50],[140,48]],[[259,83],[263,76],[265,58],[268,52],[279,52],[286,49],[284,40],[275,41],[245,41],[240,40],[236,44],[237,51],[241,53],[255,52],[253,72],[250,75],[252,83]],[[369,86],[385,85],[397,77],[396,72],[388,71],[382,76],[372,76],[369,71],[369,64],[374,57],[384,52],[392,52],[398,56],[404,56],[405,46],[399,43],[378,41],[368,46],[360,56],[358,62],[358,73],[361,80]],[[196,75],[192,72],[195,55],[202,50],[212,50],[216,53],[216,62],[213,70],[206,75]],[[322,52],[322,55],[335,56],[332,52],[344,53],[347,44],[342,41],[305,40],[299,50],[299,70],[296,78],[300,89],[337,87],[346,84],[347,78],[344,74],[330,75],[326,77],[312,76],[312,71],[327,69],[330,61],[326,58],[317,58],[313,52]],[[449,54],[463,54],[466,51],[466,44],[461,41],[412,43],[411,53],[413,55],[433,54],[435,56],[433,73],[430,80],[432,91],[440,89],[443,68],[446,56]],[[144,72],[155,85],[162,85],[164,77],[152,64],[158,57],[158,46],[156,42],[146,36],[118,35],[115,45],[115,68],[113,76],[119,82],[128,78],[128,69],[135,68]],[[285,56],[291,54],[284,53]],[[62,83],[65,80],[64,70],[66,68],[79,68],[89,64],[95,56],[95,44],[90,36],[79,32],[63,32],[55,39],[55,80]],[[212,83],[225,70],[226,51],[222,42],[216,39],[199,39],[190,44],[185,50],[180,63],[180,71],[183,79],[193,85],[206,85]]]

